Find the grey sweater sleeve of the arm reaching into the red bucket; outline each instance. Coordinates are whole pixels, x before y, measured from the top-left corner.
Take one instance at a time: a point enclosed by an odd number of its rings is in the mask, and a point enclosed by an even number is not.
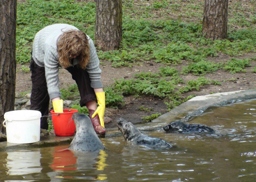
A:
[[[46,49],[44,63],[45,63],[45,78],[47,82],[47,89],[50,99],[61,97],[59,89],[59,64],[55,57],[56,51],[51,46]]]

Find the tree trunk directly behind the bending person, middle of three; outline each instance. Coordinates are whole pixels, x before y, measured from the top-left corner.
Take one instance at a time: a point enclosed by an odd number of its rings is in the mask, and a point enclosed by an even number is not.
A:
[[[117,50],[122,40],[122,0],[97,0],[95,45],[102,51]]]

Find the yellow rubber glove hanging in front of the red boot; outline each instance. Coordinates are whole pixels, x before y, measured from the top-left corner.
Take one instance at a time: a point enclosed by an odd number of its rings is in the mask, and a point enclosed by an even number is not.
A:
[[[100,125],[105,128],[104,126],[104,121],[103,121],[103,116],[105,113],[105,92],[95,92],[97,101],[98,101],[98,107],[96,111],[93,113],[92,117],[95,117],[97,114],[99,115],[100,118]]]

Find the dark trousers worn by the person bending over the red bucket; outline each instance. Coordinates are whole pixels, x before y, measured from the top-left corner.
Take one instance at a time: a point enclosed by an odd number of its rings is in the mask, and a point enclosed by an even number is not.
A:
[[[30,70],[32,80],[30,109],[40,111],[42,116],[48,115],[50,97],[47,91],[45,68],[38,66],[31,56]],[[85,106],[89,101],[96,101],[97,98],[93,88],[90,86],[91,81],[87,71],[78,66],[70,66],[66,70],[71,73],[73,80],[78,85],[81,97],[80,106]],[[40,127],[48,129],[47,117],[41,117]]]

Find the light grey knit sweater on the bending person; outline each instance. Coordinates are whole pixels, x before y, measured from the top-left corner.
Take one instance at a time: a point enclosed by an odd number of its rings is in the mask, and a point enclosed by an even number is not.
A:
[[[32,57],[38,66],[45,67],[45,77],[50,99],[61,96],[58,76],[59,56],[57,53],[57,40],[63,32],[71,29],[78,30],[76,27],[68,24],[53,24],[40,30],[34,38]],[[91,80],[91,87],[102,88],[100,61],[92,39],[89,36],[87,37],[90,46],[90,61],[86,66],[86,70]],[[78,64],[78,61],[74,61],[73,64]]]

